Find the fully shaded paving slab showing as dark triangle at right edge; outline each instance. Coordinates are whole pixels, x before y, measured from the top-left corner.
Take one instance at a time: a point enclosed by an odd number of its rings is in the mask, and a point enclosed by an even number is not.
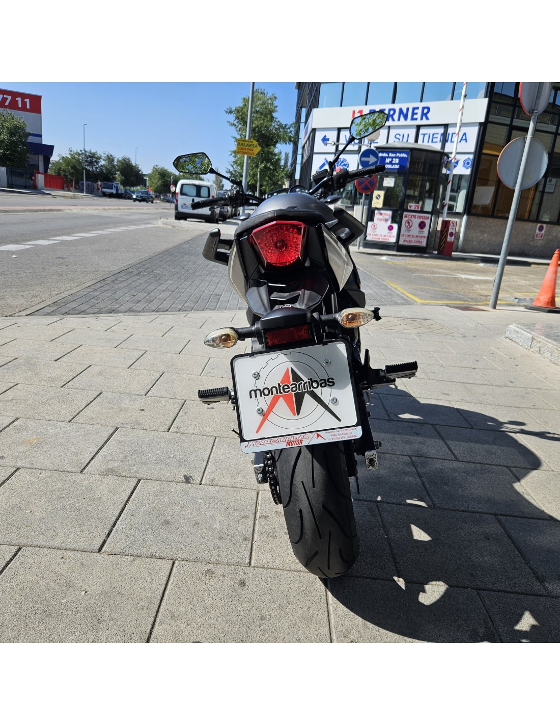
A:
[[[500,516],[529,566],[553,597],[560,597],[560,521]]]

